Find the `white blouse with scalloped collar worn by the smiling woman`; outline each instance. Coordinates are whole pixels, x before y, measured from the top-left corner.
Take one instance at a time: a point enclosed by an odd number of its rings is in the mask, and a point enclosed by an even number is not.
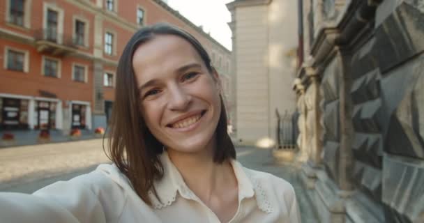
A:
[[[185,185],[167,153],[160,156],[164,176],[155,182],[158,201],[148,206],[125,175],[111,164],[61,181],[33,195],[0,193],[3,222],[220,222]],[[239,208],[229,222],[301,222],[292,185],[272,174],[232,160],[239,184]]]

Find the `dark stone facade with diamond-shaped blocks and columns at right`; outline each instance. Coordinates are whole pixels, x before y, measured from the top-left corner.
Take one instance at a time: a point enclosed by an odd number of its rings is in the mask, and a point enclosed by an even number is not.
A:
[[[299,0],[301,178],[321,222],[424,222],[424,3]]]

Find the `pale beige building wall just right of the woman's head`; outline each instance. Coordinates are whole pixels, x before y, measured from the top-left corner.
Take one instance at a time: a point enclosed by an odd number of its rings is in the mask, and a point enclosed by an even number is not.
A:
[[[234,138],[239,144],[272,146],[276,111],[296,108],[292,83],[296,72],[296,1],[236,0],[232,13],[236,102]]]

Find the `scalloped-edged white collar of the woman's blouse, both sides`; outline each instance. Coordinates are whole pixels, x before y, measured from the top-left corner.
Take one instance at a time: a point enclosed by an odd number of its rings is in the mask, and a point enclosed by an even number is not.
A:
[[[199,201],[197,196],[185,184],[183,177],[169,159],[166,151],[160,155],[160,162],[162,162],[164,174],[160,180],[154,182],[160,201],[153,194],[152,190],[149,191],[153,208],[161,209],[170,206],[176,200],[177,192],[184,199]],[[245,169],[236,160],[232,160],[231,164],[239,184],[239,205],[243,199],[255,196],[258,208],[265,213],[271,213],[273,209],[271,203],[259,179],[255,178],[254,172]]]

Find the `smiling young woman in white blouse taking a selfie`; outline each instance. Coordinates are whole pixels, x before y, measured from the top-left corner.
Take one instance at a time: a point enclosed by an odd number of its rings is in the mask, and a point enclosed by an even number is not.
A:
[[[114,164],[1,194],[2,221],[300,222],[292,185],[236,161],[218,73],[177,27],[147,26],[126,45],[110,128]]]

